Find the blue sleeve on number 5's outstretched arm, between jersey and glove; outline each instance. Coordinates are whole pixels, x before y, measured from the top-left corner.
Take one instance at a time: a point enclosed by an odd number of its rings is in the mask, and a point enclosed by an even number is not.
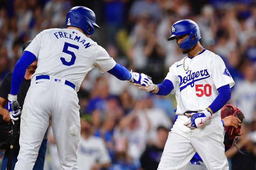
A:
[[[108,73],[116,76],[119,80],[130,80],[132,78],[131,73],[118,63],[111,70],[108,70]]]

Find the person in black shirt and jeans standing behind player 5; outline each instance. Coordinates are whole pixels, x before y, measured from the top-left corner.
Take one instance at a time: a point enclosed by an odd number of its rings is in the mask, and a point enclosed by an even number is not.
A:
[[[23,51],[25,50],[25,48],[28,47],[28,45],[30,44],[31,41],[27,41],[24,43],[23,45]],[[23,104],[24,104],[24,100],[26,97],[26,94],[28,92],[28,88],[30,86],[30,77],[32,76],[32,74],[35,73],[35,70],[37,68],[37,61],[33,62],[32,64],[30,64],[26,70],[24,79],[22,81],[22,84],[20,86],[20,90],[19,90],[19,104],[20,107],[22,109]],[[9,115],[9,111],[7,109],[4,108],[4,106],[6,105],[8,99],[7,96],[11,91],[11,80],[12,80],[12,72],[7,73],[4,77],[4,80],[2,81],[2,84],[0,85],[0,120],[4,121],[4,123],[2,123],[5,127],[7,126],[13,126],[11,119],[10,119],[10,115]],[[2,121],[2,122],[3,122]],[[16,136],[16,139],[19,139],[19,131],[20,131],[20,120],[18,120],[18,127],[17,127],[17,133],[18,136]],[[0,134],[0,136],[4,136],[4,134]],[[17,157],[20,151],[20,147],[19,144],[16,144],[18,142],[15,142],[14,145],[14,153],[13,153],[13,159],[12,159],[12,169],[14,169],[16,162],[18,161]],[[17,147],[18,145],[18,147]],[[33,170],[43,170],[44,169],[44,158],[45,158],[45,153],[46,153],[46,146],[47,146],[47,133],[45,133],[44,135],[44,140],[41,144],[40,150],[38,152],[38,156],[36,159],[36,163],[34,165]],[[1,146],[0,146],[1,147]],[[1,170],[5,170],[6,166],[7,166],[7,162],[8,162],[8,156],[9,156],[9,147],[7,147],[5,154],[4,154],[4,158],[2,161],[2,165],[1,165]]]

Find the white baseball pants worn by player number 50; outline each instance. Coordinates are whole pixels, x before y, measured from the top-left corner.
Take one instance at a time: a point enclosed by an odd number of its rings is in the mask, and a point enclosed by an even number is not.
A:
[[[188,119],[184,115],[178,116],[169,132],[157,170],[184,170],[195,152],[202,158],[207,169],[228,170],[220,115],[215,113],[210,121],[195,130],[183,125]]]

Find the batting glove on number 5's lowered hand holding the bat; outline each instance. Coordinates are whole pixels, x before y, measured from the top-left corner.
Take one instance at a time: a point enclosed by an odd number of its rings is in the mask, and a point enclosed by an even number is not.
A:
[[[8,110],[12,123],[14,124],[14,121],[17,121],[19,119],[18,115],[20,115],[21,113],[21,107],[19,105],[19,102],[17,101],[17,95],[12,96],[8,94],[8,100]]]

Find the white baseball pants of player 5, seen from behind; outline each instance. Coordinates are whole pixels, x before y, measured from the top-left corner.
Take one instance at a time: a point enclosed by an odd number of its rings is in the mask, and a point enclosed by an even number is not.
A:
[[[52,123],[60,165],[78,170],[76,150],[80,139],[79,105],[76,91],[65,79],[32,80],[20,122],[20,152],[15,170],[32,170],[44,133]]]

